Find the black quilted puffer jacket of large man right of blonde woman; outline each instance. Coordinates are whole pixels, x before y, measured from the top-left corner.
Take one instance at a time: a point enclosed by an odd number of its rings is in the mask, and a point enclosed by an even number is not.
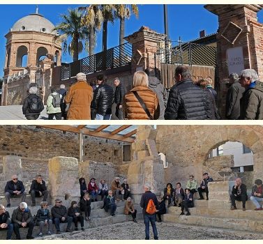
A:
[[[176,83],[169,94],[165,119],[212,119],[207,92],[190,79]]]

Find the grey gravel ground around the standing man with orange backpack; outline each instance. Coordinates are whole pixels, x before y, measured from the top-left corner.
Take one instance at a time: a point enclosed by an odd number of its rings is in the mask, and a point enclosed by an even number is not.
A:
[[[186,224],[174,224],[161,222],[156,223],[159,239],[172,240],[176,233],[176,240],[260,240],[263,234],[251,234],[248,231],[230,231],[227,229],[214,229]],[[100,235],[100,233],[103,233]],[[172,235],[171,235],[172,233]],[[150,226],[150,236],[153,238]],[[139,220],[134,222],[123,222],[103,227],[75,231],[69,234],[45,236],[44,240],[143,240],[144,223]]]

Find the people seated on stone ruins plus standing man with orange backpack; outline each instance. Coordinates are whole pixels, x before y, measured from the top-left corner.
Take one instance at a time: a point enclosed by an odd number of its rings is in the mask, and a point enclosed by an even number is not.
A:
[[[213,181],[213,178],[209,177],[209,174],[204,173],[200,187],[197,187],[197,181],[193,175],[190,175],[184,190],[179,182],[176,183],[175,188],[173,188],[172,183],[167,183],[163,195],[158,198],[151,192],[149,185],[144,185],[144,194],[142,194],[140,207],[142,208],[145,224],[145,239],[149,240],[150,238],[149,224],[151,223],[154,239],[158,240],[156,215],[158,217],[157,221],[161,222],[161,215],[167,211],[165,201],[168,201],[168,208],[172,205],[181,208],[180,215],[190,215],[189,208],[194,206],[195,192],[199,193],[200,198],[198,200],[204,200],[202,192],[205,192],[206,200],[209,200],[209,182],[211,181]],[[6,208],[10,208],[10,198],[19,197],[22,199],[22,202],[15,208],[11,216],[6,211],[5,206],[0,204],[0,231],[6,230],[6,239],[8,240],[11,239],[13,231],[16,239],[20,240],[20,228],[28,228],[27,239],[33,239],[33,228],[36,225],[39,226],[38,236],[40,237],[43,236],[44,226],[47,226],[47,235],[61,234],[60,223],[67,223],[66,232],[72,232],[71,224],[74,222],[75,231],[78,231],[77,224],[80,222],[81,230],[84,231],[84,220],[91,220],[91,202],[98,200],[103,201],[101,208],[104,208],[106,212],[110,211],[112,217],[115,216],[117,201],[125,201],[123,213],[131,215],[133,222],[137,223],[137,209],[135,209],[135,204],[131,198],[132,192],[126,178],[121,183],[120,178],[115,177],[110,185],[107,185],[105,179],[100,179],[100,182],[96,183],[96,178],[91,178],[88,184],[85,178],[80,178],[79,182],[80,201],[78,203],[77,201],[72,201],[70,208],[67,209],[66,206],[63,206],[61,199],[55,199],[54,206],[52,206],[50,211],[47,203],[49,195],[47,185],[41,175],[36,176],[29,190],[32,201],[31,206],[36,206],[36,197],[43,197],[43,201],[41,201],[36,215],[32,216],[28,204],[25,202],[27,192],[24,189],[24,184],[18,180],[17,175],[13,175],[11,181],[8,181],[5,187]],[[232,202],[231,210],[234,211],[236,209],[237,200],[242,201],[242,209],[246,211],[248,194],[246,185],[241,182],[241,178],[236,178],[230,199]],[[255,205],[255,211],[263,210],[261,205],[263,203],[261,179],[255,180],[250,200]],[[82,212],[84,212],[85,217],[82,215]],[[56,233],[53,233],[53,224]]]

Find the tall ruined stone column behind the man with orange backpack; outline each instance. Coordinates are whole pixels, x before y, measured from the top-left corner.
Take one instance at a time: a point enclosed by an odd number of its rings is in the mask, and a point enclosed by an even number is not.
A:
[[[128,183],[136,203],[140,203],[144,185],[150,185],[156,195],[160,195],[164,188],[165,173],[156,149],[156,134],[157,130],[150,125],[140,125],[132,144],[134,154],[128,168]]]

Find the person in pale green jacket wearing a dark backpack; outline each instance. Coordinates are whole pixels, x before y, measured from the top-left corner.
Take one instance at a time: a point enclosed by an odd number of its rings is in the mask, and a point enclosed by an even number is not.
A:
[[[49,120],[52,120],[54,116],[57,120],[61,120],[61,98],[62,96],[57,93],[53,87],[50,96],[47,98],[47,114]]]

